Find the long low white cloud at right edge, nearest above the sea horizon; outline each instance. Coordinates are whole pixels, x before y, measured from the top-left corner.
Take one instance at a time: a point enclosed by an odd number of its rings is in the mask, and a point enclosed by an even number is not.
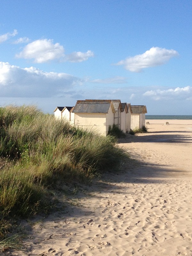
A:
[[[186,86],[166,90],[149,90],[144,92],[143,95],[151,97],[153,100],[188,99],[190,96],[192,96],[192,87]]]

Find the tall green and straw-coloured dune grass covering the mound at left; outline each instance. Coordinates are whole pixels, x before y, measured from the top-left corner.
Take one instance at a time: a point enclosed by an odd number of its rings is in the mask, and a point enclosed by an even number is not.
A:
[[[0,221],[9,226],[10,218],[47,212],[48,190],[58,181],[83,182],[105,170],[118,171],[126,154],[115,141],[34,106],[0,108]],[[0,230],[0,251],[3,241],[12,241],[7,233],[8,228]]]

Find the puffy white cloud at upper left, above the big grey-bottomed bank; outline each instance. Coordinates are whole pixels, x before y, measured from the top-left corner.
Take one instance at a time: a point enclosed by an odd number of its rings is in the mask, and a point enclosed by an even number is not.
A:
[[[53,44],[52,39],[39,39],[26,45],[17,58],[34,59],[36,63],[60,59],[64,54],[64,48],[59,43]]]

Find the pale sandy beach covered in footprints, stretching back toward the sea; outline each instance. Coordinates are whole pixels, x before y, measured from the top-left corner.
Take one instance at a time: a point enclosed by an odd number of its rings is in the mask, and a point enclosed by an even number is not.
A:
[[[57,211],[30,223],[17,256],[192,255],[192,120],[146,120],[126,135],[122,170],[59,196]],[[164,125],[169,122],[168,125]]]

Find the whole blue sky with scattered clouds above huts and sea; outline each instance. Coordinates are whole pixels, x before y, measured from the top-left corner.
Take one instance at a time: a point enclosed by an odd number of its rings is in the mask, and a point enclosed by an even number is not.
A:
[[[120,99],[192,115],[192,1],[1,0],[0,105]]]

